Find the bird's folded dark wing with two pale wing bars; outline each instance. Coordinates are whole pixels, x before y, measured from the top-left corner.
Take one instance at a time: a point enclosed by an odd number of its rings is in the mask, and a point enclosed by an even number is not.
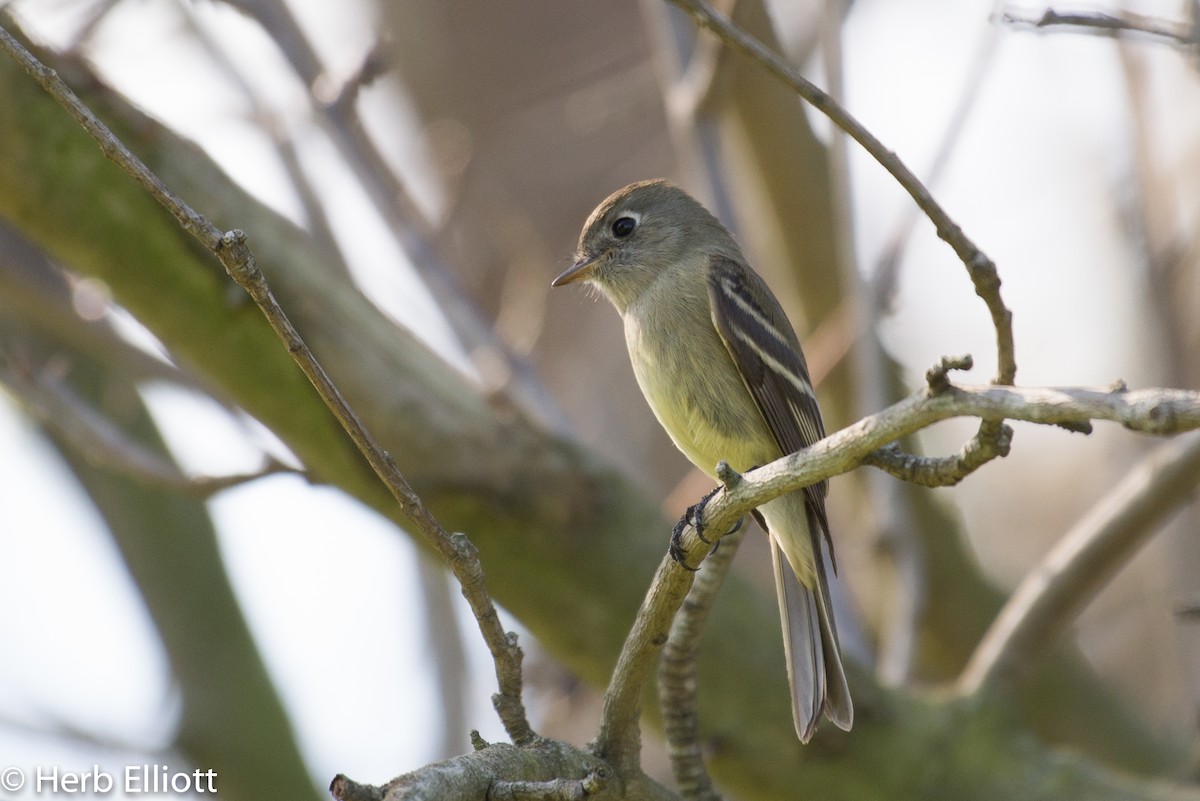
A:
[[[708,297],[713,325],[780,452],[794,453],[824,438],[821,410],[799,339],[762,278],[734,259],[713,257]],[[829,544],[832,560],[826,489],[822,481],[806,487],[804,494]]]

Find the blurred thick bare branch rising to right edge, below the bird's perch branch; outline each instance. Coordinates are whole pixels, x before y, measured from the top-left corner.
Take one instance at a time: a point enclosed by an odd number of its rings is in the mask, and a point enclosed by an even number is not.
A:
[[[1200,435],[1162,446],[1068,531],[1009,598],[959,679],[965,694],[1012,681],[1200,483]]]

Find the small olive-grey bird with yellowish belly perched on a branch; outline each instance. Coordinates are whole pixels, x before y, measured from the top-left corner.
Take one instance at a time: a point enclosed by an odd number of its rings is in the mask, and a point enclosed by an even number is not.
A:
[[[600,203],[571,266],[551,283],[576,282],[616,307],[647,403],[709,477],[719,462],[745,472],[824,436],[782,307],[733,235],[682,188],[640,181]],[[822,481],[755,510],[770,540],[792,718],[805,743],[822,716],[848,731],[854,715],[829,595],[826,494]]]

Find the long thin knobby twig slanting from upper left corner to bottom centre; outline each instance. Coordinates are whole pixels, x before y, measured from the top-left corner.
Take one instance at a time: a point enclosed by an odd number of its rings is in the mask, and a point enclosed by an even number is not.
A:
[[[505,632],[500,625],[496,607],[484,586],[484,568],[475,547],[467,540],[466,535],[450,535],[442,528],[401,475],[391,456],[379,446],[358,415],[346,403],[338,389],[325,374],[324,368],[305,345],[300,333],[271,294],[266,279],[246,245],[246,235],[240,230],[221,231],[203,215],[184,203],[91,113],[58,77],[58,73],[38,61],[4,28],[0,28],[0,49],[8,53],[52,97],[67,109],[71,116],[96,140],[108,158],[133,176],[151,197],[179,221],[186,231],[212,252],[229,276],[254,300],[296,365],[304,371],[330,411],[334,412],[359,451],[366,457],[376,475],[396,499],[401,512],[450,565],[462,585],[463,596],[470,604],[484,640],[492,652],[496,677],[499,683],[499,693],[492,699],[497,713],[514,743],[520,746],[533,742],[536,735],[529,727],[524,705],[521,701],[521,649],[517,646],[516,634]]]

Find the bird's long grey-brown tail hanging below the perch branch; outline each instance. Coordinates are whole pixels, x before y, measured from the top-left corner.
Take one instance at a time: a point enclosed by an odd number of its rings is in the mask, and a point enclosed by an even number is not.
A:
[[[820,535],[814,536],[816,520],[806,508],[803,512],[797,508],[797,500],[803,502],[803,496],[785,495],[766,505],[762,513],[770,529],[770,554],[784,628],[787,681],[792,689],[792,718],[800,742],[808,742],[822,713],[834,725],[848,731],[854,719],[854,707],[838,646],[838,628],[826,574],[828,560],[821,547]],[[779,505],[779,501],[786,501],[786,506],[791,508],[770,508]],[[800,529],[798,522],[803,522],[805,530],[797,530]],[[794,552],[792,558],[788,558],[787,552]],[[796,562],[799,570],[793,567]]]

